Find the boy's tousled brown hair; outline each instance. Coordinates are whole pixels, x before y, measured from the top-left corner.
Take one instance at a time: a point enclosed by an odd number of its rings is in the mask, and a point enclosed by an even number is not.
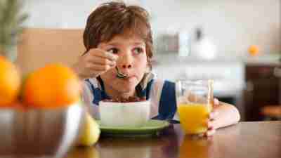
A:
[[[110,41],[117,34],[136,34],[145,42],[148,63],[152,58],[152,31],[149,14],[140,6],[126,6],[122,2],[110,2],[100,5],[86,22],[84,46],[87,53],[100,42]]]

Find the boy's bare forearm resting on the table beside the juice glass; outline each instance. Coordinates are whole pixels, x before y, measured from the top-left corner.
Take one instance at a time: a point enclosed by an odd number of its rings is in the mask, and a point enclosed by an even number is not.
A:
[[[240,113],[234,105],[220,102],[220,105],[214,107],[214,111],[218,112],[214,120],[215,129],[237,124],[240,121]]]

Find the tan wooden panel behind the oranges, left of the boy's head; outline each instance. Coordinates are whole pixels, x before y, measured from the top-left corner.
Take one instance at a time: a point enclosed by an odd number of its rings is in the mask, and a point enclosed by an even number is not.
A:
[[[85,50],[82,29],[27,28],[20,39],[16,64],[23,74],[52,62],[71,66]]]

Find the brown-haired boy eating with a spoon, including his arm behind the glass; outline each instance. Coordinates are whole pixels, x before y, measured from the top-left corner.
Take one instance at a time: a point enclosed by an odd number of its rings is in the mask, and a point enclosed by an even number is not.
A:
[[[137,96],[150,99],[152,119],[177,119],[175,84],[150,72],[152,31],[145,9],[119,2],[102,4],[89,15],[84,46],[86,52],[73,68],[84,79],[83,98],[94,117],[99,116],[100,100]],[[117,77],[116,67],[127,77]],[[233,105],[218,100],[215,105],[207,120],[207,136],[240,119]]]

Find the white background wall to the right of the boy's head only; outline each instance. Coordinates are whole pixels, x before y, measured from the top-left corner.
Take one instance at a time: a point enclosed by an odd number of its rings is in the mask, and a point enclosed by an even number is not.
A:
[[[219,53],[244,55],[251,44],[261,53],[280,51],[280,0],[182,0],[158,7],[161,0],[148,3],[157,9],[154,28],[190,30],[202,25]]]

